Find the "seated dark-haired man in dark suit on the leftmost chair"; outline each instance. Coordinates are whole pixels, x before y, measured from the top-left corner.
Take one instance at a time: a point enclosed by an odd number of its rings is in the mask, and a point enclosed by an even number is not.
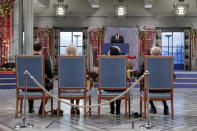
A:
[[[40,41],[35,41],[34,42],[33,49],[34,49],[34,55],[42,55],[43,48],[42,48],[42,43]],[[51,61],[50,61],[49,57],[45,56],[44,57],[44,62],[45,62],[45,73],[46,73],[45,75],[48,78],[52,79],[53,78],[53,73],[52,73]],[[46,85],[45,88],[48,91],[52,89],[52,83],[48,79],[45,79],[45,85]],[[33,110],[34,101],[29,100],[28,102],[29,102],[29,113],[33,113],[34,112],[34,110]],[[42,114],[42,103],[40,105],[39,114]]]

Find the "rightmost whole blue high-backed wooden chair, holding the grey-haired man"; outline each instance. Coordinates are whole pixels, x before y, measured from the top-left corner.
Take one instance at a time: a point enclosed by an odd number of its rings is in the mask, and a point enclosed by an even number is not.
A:
[[[145,71],[150,74],[144,79],[144,92],[140,96],[140,113],[142,113],[142,101],[144,101],[144,117],[146,117],[146,86],[149,86],[149,99],[153,101],[171,100],[171,115],[173,110],[173,81],[174,81],[174,57],[173,56],[145,56]],[[148,85],[146,83],[148,80]],[[154,91],[154,92],[151,92]]]

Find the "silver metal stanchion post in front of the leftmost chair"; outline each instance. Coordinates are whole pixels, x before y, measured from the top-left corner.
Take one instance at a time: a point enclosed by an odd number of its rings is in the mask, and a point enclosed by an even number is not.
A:
[[[23,114],[23,120],[22,120],[22,124],[17,125],[16,128],[32,128],[33,125],[28,123],[26,121],[26,102],[27,102],[27,77],[29,75],[29,72],[27,70],[25,70],[24,72],[24,86],[25,86],[25,92],[24,92],[24,114]]]

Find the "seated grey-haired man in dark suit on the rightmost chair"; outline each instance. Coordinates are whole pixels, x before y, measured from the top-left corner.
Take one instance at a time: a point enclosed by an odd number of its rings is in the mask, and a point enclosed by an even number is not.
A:
[[[161,55],[161,49],[158,46],[153,46],[151,48],[151,55],[154,55],[154,56]],[[137,77],[140,77],[141,75],[143,75],[143,73],[144,73],[144,63],[140,66],[139,73],[137,74]],[[141,92],[144,91],[144,80],[142,80],[140,82],[140,91]],[[158,92],[158,91],[150,91],[150,92]],[[160,92],[162,92],[162,91],[160,91]],[[156,114],[157,110],[156,110],[156,107],[155,107],[153,101],[150,100],[149,102],[151,105],[150,113]],[[168,115],[169,114],[168,105],[167,105],[166,101],[162,101],[162,102],[164,105],[164,115]]]

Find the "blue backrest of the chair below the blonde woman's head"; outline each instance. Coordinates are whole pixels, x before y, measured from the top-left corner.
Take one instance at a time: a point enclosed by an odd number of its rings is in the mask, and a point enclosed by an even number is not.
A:
[[[85,88],[86,69],[86,56],[58,56],[59,88]]]

